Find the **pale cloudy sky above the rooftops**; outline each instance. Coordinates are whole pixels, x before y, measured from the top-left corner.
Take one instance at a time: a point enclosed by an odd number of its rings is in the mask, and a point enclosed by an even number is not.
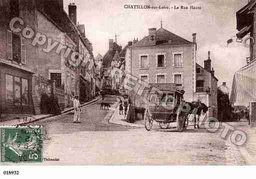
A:
[[[204,66],[204,60],[211,51],[212,67],[219,79],[218,85],[227,82],[232,88],[234,73],[246,65],[249,48],[236,41],[236,12],[248,0],[64,0],[77,5],[77,21],[85,24],[85,33],[93,45],[94,56],[102,56],[108,50],[108,39],[115,39],[123,47],[134,38],[142,39],[148,28],[163,28],[192,41],[192,33],[197,33],[197,63]],[[166,9],[125,9],[125,4],[151,4],[176,6],[201,6],[201,10]]]

